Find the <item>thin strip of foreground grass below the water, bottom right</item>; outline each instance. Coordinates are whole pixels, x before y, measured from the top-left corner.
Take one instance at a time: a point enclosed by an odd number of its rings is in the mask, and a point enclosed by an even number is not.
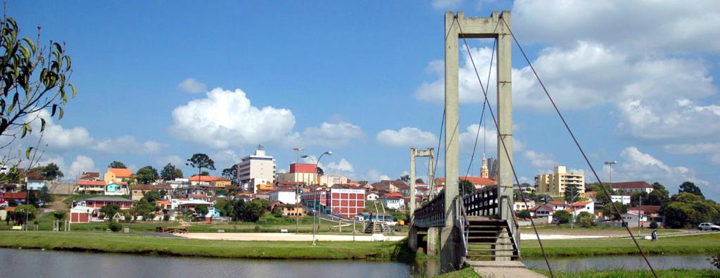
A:
[[[536,270],[540,274],[550,277],[545,270]],[[660,277],[677,278],[711,278],[720,277],[720,270],[696,270],[696,269],[667,269],[656,271]],[[553,272],[557,278],[651,278],[652,272],[647,270],[590,270],[585,272]]]

